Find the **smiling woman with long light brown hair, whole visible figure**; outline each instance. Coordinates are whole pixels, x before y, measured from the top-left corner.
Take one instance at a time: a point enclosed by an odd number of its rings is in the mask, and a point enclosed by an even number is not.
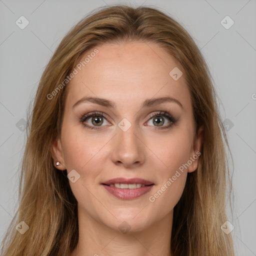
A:
[[[234,255],[215,98],[194,41],[161,11],[82,19],[42,74],[1,255]]]

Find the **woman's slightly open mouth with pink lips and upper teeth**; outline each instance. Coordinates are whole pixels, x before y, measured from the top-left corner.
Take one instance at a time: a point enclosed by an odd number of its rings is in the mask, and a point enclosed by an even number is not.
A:
[[[114,178],[101,185],[115,197],[130,200],[149,192],[154,183],[141,178]]]

